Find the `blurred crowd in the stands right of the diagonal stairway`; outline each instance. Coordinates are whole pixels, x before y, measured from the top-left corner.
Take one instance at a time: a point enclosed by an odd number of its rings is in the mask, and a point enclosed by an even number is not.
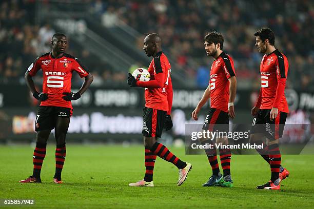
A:
[[[289,59],[288,86],[314,88],[311,70],[314,64],[314,30],[311,29],[314,4],[311,1],[279,0],[260,4],[245,0],[160,0],[149,3],[109,0],[106,4],[96,1],[92,6],[102,15],[107,27],[123,22],[142,34],[161,34],[164,51],[181,66],[187,78],[194,77],[202,87],[208,85],[207,72],[211,64],[205,57],[203,37],[213,30],[224,35],[224,50],[235,60],[238,79],[244,78],[244,83],[251,80],[249,86],[259,84],[256,81],[261,55],[254,46],[253,34],[268,26],[276,34],[276,47]],[[139,49],[143,37],[139,37]]]

